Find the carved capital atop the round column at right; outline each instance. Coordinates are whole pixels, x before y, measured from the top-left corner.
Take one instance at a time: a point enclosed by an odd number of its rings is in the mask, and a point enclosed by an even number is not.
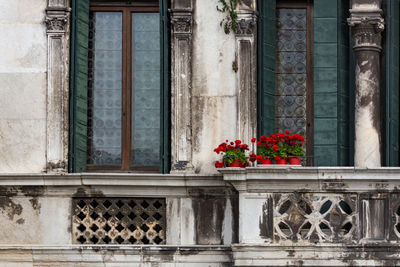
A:
[[[382,51],[381,32],[385,29],[385,21],[381,16],[382,10],[350,10],[351,17],[347,23],[352,27],[352,36],[354,39],[353,49]]]

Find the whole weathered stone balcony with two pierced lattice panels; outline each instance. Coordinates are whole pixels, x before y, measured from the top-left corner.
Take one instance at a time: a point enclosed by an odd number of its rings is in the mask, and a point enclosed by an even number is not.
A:
[[[2,174],[0,263],[400,264],[400,168],[220,172]]]

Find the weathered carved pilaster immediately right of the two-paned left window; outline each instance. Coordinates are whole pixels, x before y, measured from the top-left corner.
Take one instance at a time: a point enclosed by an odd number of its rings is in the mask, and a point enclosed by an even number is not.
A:
[[[193,172],[192,164],[192,7],[173,1],[171,34],[172,172]]]

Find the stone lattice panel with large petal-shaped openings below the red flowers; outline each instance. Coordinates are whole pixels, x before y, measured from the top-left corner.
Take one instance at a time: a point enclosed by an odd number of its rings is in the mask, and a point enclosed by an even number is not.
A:
[[[277,194],[274,239],[344,242],[358,237],[357,196],[344,194]]]

